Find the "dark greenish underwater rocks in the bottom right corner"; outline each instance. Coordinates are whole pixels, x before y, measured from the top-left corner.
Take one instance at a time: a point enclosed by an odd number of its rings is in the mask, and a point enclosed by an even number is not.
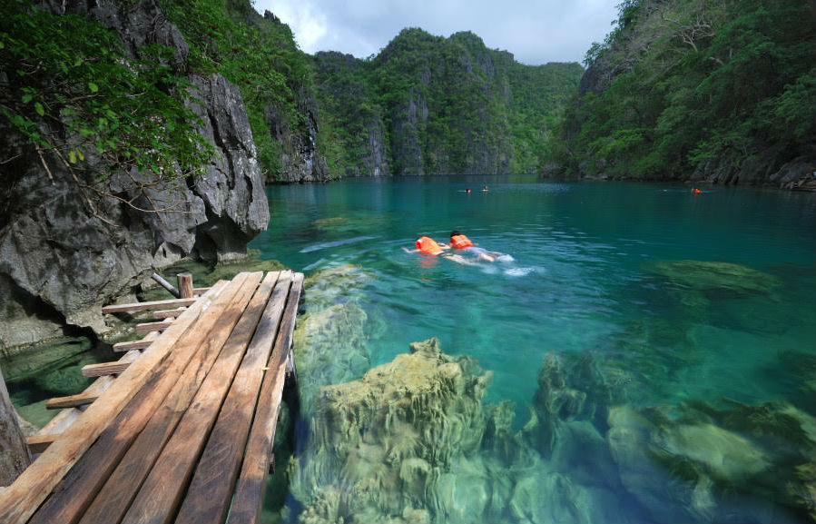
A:
[[[729,404],[612,408],[606,439],[624,487],[658,522],[779,519],[776,504],[784,519],[816,519],[816,420],[788,404]]]

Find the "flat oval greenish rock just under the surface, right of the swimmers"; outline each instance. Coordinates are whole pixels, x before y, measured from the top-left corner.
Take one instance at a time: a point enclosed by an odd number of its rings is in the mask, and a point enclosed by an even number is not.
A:
[[[730,262],[660,262],[654,266],[653,272],[699,291],[770,293],[781,283],[768,273]]]

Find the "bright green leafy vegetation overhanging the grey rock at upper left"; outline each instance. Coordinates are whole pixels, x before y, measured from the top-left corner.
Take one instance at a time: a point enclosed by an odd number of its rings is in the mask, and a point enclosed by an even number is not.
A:
[[[88,18],[53,15],[28,0],[0,5],[0,115],[44,165],[54,154],[74,180],[93,169],[101,182],[133,168],[163,180],[199,173],[211,147],[195,132],[188,83],[169,64],[169,48],[146,46],[126,61],[118,36]],[[103,162],[92,168],[91,156]]]

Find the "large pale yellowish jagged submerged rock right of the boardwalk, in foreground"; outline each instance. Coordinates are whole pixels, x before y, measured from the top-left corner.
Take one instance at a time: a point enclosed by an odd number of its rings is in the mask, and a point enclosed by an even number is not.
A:
[[[321,390],[310,460],[293,462],[293,492],[310,501],[310,521],[423,521],[430,512],[464,522],[489,504],[484,466],[467,456],[485,432],[480,400],[491,373],[443,353],[437,339],[410,350]],[[327,502],[332,492],[338,504]]]

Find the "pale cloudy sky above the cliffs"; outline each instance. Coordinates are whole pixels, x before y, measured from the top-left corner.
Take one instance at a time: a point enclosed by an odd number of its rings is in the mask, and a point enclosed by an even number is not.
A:
[[[621,0],[256,0],[289,24],[307,53],[375,54],[403,27],[470,30],[525,64],[580,62],[609,32]]]

